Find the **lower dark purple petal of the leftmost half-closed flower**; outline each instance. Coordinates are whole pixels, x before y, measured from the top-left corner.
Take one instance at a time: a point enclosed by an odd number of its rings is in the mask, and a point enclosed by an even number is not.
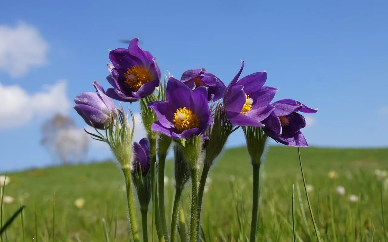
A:
[[[83,104],[75,105],[74,109],[88,125],[95,127],[96,129],[105,129],[105,122],[108,118],[105,113],[100,112],[94,107]]]

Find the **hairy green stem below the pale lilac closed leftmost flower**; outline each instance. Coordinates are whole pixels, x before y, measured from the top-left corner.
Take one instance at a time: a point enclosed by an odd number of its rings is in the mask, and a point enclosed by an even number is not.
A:
[[[128,212],[129,212],[129,220],[130,226],[132,230],[133,241],[140,242],[139,234],[137,232],[137,224],[135,218],[135,208],[133,207],[133,192],[132,192],[132,181],[131,181],[131,172],[128,166],[123,166],[121,168],[124,173],[125,179],[125,187],[126,187],[126,199],[128,203]]]

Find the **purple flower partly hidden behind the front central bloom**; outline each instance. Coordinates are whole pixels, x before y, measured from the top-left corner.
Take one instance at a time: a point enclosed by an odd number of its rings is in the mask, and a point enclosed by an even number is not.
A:
[[[183,72],[180,81],[186,84],[191,90],[204,86],[208,89],[208,101],[220,100],[225,91],[225,84],[211,73],[206,73],[204,68],[191,69]]]

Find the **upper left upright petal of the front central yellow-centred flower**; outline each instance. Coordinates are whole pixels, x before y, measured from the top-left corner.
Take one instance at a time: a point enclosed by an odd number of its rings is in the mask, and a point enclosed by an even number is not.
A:
[[[177,107],[189,107],[191,90],[183,82],[170,77],[166,86],[166,100]]]

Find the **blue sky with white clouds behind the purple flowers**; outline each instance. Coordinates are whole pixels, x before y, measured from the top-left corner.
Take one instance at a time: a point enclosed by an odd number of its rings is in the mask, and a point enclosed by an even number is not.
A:
[[[312,108],[311,146],[388,146],[386,1],[6,1],[0,16],[0,170],[49,165],[40,127],[73,98],[109,84],[108,49],[140,38],[160,69],[204,67],[229,83],[267,70],[275,100]],[[137,104],[131,106],[138,112]],[[229,146],[244,144],[241,132]],[[88,160],[110,157],[92,144]]]

